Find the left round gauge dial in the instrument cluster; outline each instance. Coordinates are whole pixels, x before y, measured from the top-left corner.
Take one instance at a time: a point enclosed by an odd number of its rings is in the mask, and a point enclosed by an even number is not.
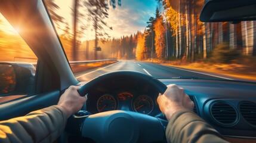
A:
[[[103,95],[98,98],[97,109],[99,112],[116,110],[116,100],[111,95]]]

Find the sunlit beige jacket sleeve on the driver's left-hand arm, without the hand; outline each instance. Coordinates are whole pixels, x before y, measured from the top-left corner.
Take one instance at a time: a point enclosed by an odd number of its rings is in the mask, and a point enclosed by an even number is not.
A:
[[[67,122],[64,109],[53,105],[0,122],[0,142],[53,142]]]

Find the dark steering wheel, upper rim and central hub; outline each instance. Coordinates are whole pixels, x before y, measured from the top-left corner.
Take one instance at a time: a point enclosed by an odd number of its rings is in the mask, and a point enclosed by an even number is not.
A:
[[[88,94],[90,89],[100,82],[117,77],[128,77],[149,83],[159,93],[164,94],[166,85],[144,73],[137,71],[115,71],[92,79],[82,86],[78,93]],[[88,99],[90,100],[90,99]],[[146,114],[132,111],[106,111],[88,116],[73,115],[67,121],[66,130],[82,138],[95,142],[165,142],[165,127],[161,120]]]

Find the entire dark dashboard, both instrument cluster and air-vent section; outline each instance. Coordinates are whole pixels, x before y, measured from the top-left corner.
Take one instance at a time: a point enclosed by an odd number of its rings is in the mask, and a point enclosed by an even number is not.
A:
[[[185,89],[195,102],[194,111],[222,135],[256,139],[256,83],[201,79],[159,79],[165,85]],[[161,113],[158,92],[148,83],[112,79],[100,83],[88,94],[87,110],[137,111],[149,116]]]

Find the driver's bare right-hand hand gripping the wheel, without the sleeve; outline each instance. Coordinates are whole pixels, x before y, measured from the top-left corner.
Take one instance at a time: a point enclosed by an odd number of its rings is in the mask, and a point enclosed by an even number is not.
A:
[[[177,85],[168,85],[165,93],[163,95],[159,94],[158,104],[168,120],[178,110],[193,111],[194,108],[194,102],[190,100],[189,95]]]

